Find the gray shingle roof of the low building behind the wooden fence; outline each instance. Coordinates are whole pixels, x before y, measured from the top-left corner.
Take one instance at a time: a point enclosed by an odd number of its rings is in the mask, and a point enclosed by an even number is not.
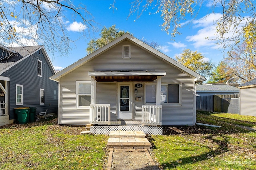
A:
[[[239,92],[239,89],[227,84],[200,84],[196,86],[197,92]]]

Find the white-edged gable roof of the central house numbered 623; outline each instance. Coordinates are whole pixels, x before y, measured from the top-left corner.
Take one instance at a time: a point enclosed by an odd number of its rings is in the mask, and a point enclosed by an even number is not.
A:
[[[94,51],[93,53],[90,53],[89,55],[87,55],[86,57],[80,59],[79,61],[77,61],[76,63],[71,64],[70,66],[64,68],[63,70],[61,70],[60,72],[56,73],[55,75],[53,75],[52,77],[50,77],[52,80],[58,81],[60,77],[68,74],[69,72],[72,72],[72,70],[78,68],[79,66],[81,66],[82,64],[92,60],[94,57],[104,53],[105,51],[110,50],[112,47],[116,46],[117,44],[119,44],[120,42],[124,41],[124,40],[128,40],[131,41],[132,43],[135,43],[136,45],[140,46],[141,48],[143,48],[144,50],[148,51],[149,53],[151,53],[154,56],[160,57],[161,59],[164,59],[165,61],[167,61],[168,63],[170,63],[172,66],[174,66],[175,68],[177,68],[178,70],[185,72],[186,74],[190,75],[191,77],[193,77],[195,79],[196,82],[201,82],[206,80],[206,78],[204,78],[203,76],[201,76],[200,74],[194,72],[193,70],[190,70],[189,68],[187,68],[186,66],[178,63],[177,61],[175,61],[174,59],[168,57],[167,55],[164,55],[163,53],[161,53],[160,51],[157,51],[156,49],[154,49],[153,47],[150,47],[149,45],[147,45],[146,43],[140,41],[139,39],[136,39],[135,37],[133,37],[132,35],[130,35],[129,33],[125,33],[124,35],[122,35],[121,37],[118,37],[117,39],[115,39],[114,41],[108,43],[107,45],[104,45],[102,48]]]

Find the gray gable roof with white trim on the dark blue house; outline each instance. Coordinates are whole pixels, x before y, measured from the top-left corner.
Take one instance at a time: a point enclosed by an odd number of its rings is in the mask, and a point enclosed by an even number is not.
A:
[[[4,47],[3,45],[0,47]],[[26,47],[4,47],[5,50],[11,50],[13,55],[10,57],[6,57],[6,59],[2,59],[0,62],[0,75],[5,72],[6,70],[12,68],[12,66],[20,63],[24,59],[28,58],[32,54],[36,53],[36,51],[41,50],[42,54],[44,55],[46,62],[50,66],[50,69],[52,71],[52,74],[55,74],[55,70],[52,66],[52,62],[50,61],[46,50],[44,49],[44,46],[38,45],[38,46],[26,46]]]

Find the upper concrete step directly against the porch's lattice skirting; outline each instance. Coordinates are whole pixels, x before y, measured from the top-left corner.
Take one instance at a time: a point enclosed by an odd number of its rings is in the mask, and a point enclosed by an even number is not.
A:
[[[110,131],[109,137],[138,137],[145,138],[146,134],[143,131]]]

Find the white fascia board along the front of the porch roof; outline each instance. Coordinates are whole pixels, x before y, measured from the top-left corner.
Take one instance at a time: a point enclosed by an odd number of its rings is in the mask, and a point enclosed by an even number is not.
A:
[[[165,76],[165,71],[88,72],[89,76]]]

